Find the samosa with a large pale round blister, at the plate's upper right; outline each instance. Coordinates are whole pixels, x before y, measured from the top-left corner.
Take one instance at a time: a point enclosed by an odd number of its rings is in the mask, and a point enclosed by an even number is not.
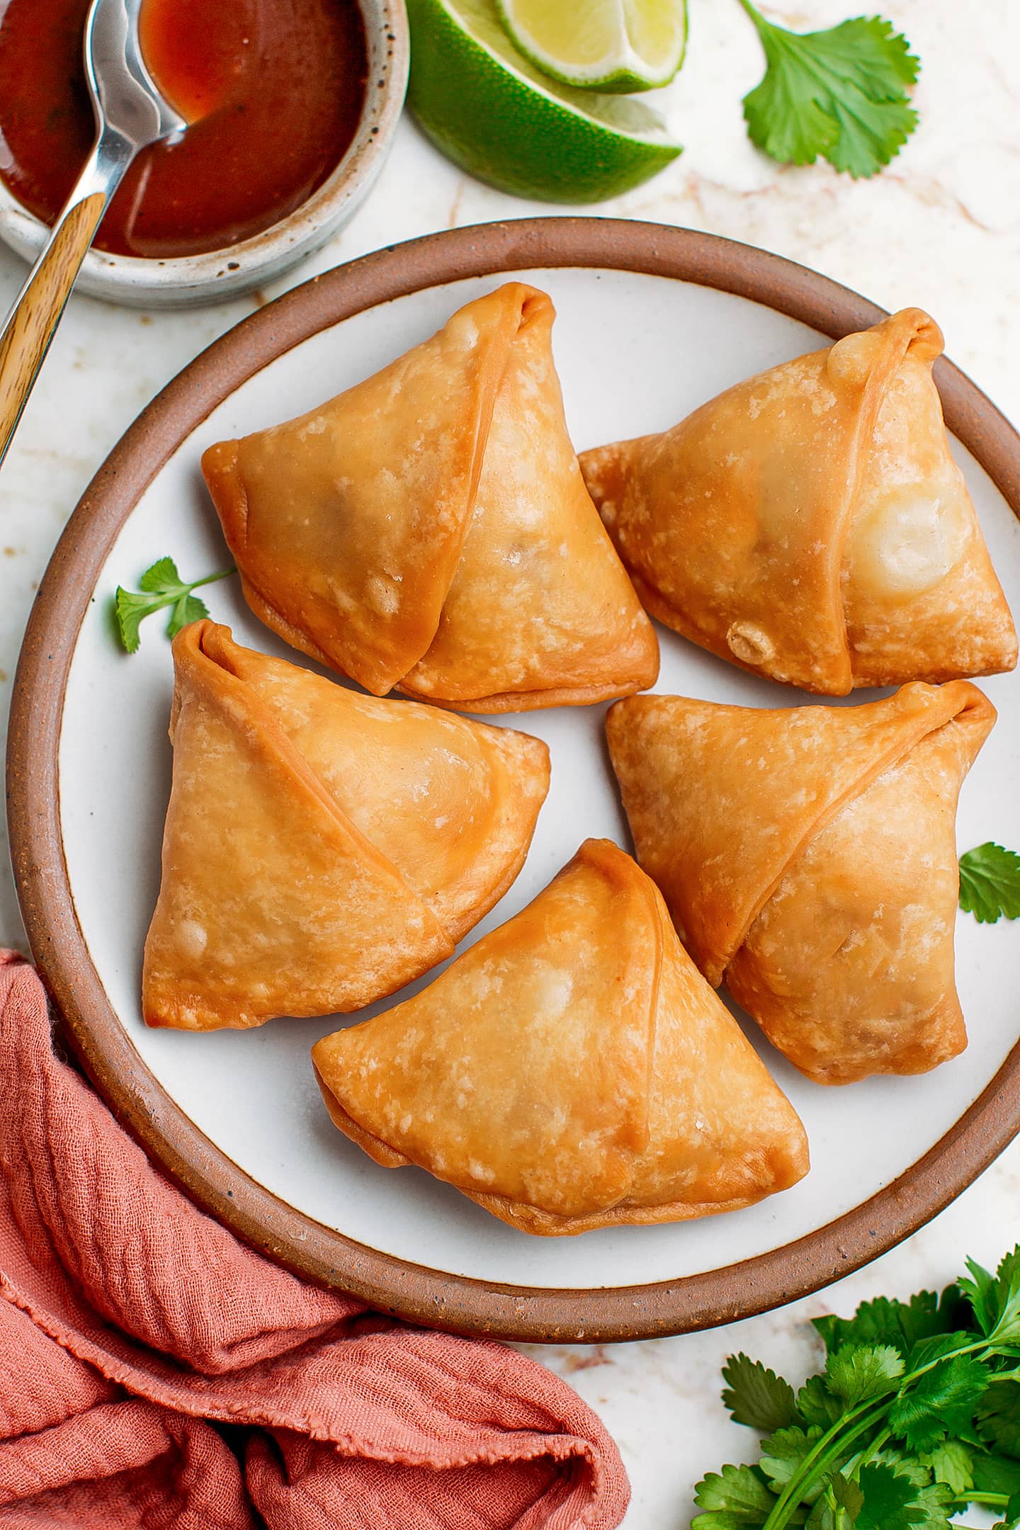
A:
[[[804,690],[991,675],[1017,635],[904,309],[581,456],[647,609]]]

